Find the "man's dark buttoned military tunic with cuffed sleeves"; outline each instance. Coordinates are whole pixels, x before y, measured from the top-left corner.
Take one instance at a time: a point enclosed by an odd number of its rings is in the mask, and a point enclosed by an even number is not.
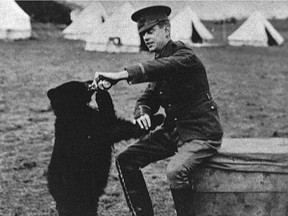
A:
[[[193,50],[170,40],[154,60],[126,68],[129,82],[150,82],[137,100],[135,119],[166,113],[164,128],[177,129],[182,141],[219,141],[223,136],[218,106],[210,94],[205,67]]]

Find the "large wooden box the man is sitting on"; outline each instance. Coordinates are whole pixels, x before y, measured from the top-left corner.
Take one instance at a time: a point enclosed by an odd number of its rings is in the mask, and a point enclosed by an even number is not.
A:
[[[288,139],[225,139],[192,182],[196,216],[288,216]]]

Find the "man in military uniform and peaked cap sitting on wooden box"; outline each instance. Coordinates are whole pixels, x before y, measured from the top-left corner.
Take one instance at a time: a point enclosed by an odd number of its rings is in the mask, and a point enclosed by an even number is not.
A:
[[[151,126],[150,116],[164,108],[161,128],[150,132],[120,153],[116,160],[128,206],[134,216],[152,216],[153,208],[141,168],[171,157],[167,167],[178,216],[193,216],[191,176],[195,167],[221,146],[223,130],[218,106],[210,94],[205,68],[191,48],[170,39],[167,6],[152,6],[132,15],[140,35],[155,59],[126,67],[120,72],[96,72],[94,84],[105,89],[116,84],[149,82],[137,100],[135,122]],[[193,197],[193,196],[192,196]],[[188,201],[190,199],[190,201]]]

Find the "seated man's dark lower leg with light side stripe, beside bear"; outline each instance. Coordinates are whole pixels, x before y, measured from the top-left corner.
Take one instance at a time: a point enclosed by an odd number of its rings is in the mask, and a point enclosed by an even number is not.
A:
[[[132,216],[153,216],[153,206],[140,169],[121,169],[116,162],[119,179]]]

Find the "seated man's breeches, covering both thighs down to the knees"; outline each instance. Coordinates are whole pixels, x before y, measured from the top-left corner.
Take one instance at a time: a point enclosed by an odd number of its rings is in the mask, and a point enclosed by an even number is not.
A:
[[[169,132],[161,128],[120,153],[117,166],[122,173],[132,174],[152,162],[173,156],[167,166],[169,184],[175,189],[186,188],[190,186],[195,168],[214,155],[220,146],[221,140],[182,142],[176,129]]]

